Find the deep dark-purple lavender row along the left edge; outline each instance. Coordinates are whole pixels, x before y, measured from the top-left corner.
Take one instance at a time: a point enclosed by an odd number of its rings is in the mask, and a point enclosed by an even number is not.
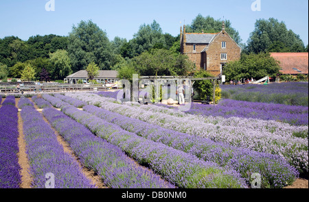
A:
[[[18,110],[13,105],[0,108],[0,188],[19,188],[21,166],[18,162]]]

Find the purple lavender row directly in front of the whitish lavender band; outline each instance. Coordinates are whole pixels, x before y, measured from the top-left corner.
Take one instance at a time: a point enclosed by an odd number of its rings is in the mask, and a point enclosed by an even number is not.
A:
[[[247,179],[247,184],[251,183],[253,173],[262,173],[262,186],[271,188],[291,185],[297,177],[295,168],[279,156],[230,147],[228,144],[214,142],[207,138],[189,136],[93,105],[84,106],[83,109],[144,138],[162,142],[174,149],[196,155],[205,161],[216,162],[219,166],[231,167]]]

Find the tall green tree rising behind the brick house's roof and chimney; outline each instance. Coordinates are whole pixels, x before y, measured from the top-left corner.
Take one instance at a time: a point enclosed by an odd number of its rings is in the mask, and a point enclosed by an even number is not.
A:
[[[222,30],[222,20],[215,20],[211,16],[204,17],[202,14],[198,14],[192,21],[191,25],[186,25],[187,33],[217,33]],[[231,21],[225,21],[225,31],[233,38],[233,40],[241,45],[242,39],[240,38],[239,32],[231,27]]]

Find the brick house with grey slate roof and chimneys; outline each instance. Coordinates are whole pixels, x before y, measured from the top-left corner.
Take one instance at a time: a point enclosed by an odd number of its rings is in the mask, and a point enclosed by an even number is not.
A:
[[[186,33],[181,27],[181,53],[186,54],[196,64],[196,69],[204,69],[214,76],[222,73],[229,61],[240,60],[242,49],[225,31],[218,33]]]

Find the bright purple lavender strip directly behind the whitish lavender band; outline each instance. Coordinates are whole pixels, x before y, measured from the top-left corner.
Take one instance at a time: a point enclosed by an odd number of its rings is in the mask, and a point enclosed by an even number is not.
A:
[[[291,125],[308,125],[308,107],[281,105],[274,103],[253,103],[225,99],[216,106],[192,103],[186,113],[203,116],[237,116],[240,118],[259,118],[289,123]]]

